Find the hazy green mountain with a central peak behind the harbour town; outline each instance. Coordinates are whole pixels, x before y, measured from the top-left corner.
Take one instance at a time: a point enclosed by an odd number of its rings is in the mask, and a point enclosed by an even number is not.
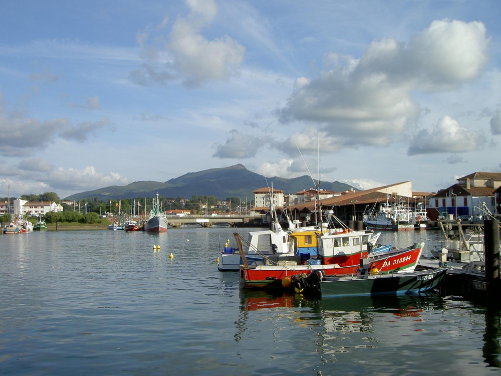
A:
[[[254,198],[254,191],[271,186],[272,183],[274,189],[282,190],[285,194],[295,194],[315,188],[312,178],[308,175],[289,179],[277,176],[265,177],[247,170],[242,164],[235,164],[229,167],[189,172],[165,182],[135,181],[123,186],[111,185],[95,191],[74,194],[65,200],[78,201],[91,198],[122,200],[154,197],[156,194],[167,198],[185,199],[190,199],[194,195],[214,196],[218,200],[225,200],[228,197]],[[339,181],[321,181],[320,188],[334,192],[356,190],[351,185]]]

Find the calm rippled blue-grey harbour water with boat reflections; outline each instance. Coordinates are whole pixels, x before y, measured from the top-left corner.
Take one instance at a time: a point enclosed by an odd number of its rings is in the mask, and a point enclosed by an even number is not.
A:
[[[227,239],[234,243],[232,232],[0,236],[0,373],[403,375],[501,369],[499,309],[436,294],[307,300],[240,291],[237,273],[218,272],[216,265],[220,246]],[[379,241],[406,247],[423,239],[427,247],[440,246],[435,231],[383,233]]]

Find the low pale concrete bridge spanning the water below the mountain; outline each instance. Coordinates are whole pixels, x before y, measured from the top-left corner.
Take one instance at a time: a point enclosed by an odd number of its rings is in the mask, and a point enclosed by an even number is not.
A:
[[[179,228],[182,225],[200,225],[201,227],[211,227],[217,224],[228,224],[233,226],[244,227],[247,224],[252,224],[254,222],[261,222],[265,216],[262,214],[256,215],[217,215],[217,216],[206,216],[206,215],[186,215],[180,216],[167,216],[169,220],[169,225],[173,228]]]

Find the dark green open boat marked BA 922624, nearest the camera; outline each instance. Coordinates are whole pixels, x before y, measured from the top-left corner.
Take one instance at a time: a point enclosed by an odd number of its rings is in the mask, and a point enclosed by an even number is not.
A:
[[[361,261],[362,262],[362,261]],[[295,275],[295,291],[313,296],[415,295],[435,289],[444,279],[448,268],[425,268],[413,272],[380,274],[368,268],[358,273],[327,277],[322,270],[308,276]]]

